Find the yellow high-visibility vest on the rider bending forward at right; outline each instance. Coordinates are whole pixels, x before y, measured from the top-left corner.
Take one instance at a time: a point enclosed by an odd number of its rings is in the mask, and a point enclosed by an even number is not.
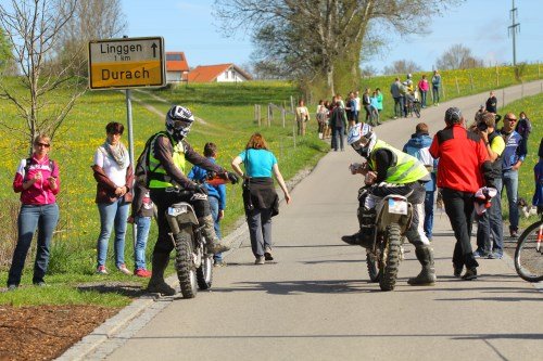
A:
[[[428,175],[428,170],[426,169],[422,162],[418,160],[414,156],[396,150],[382,140],[377,140],[375,147],[371,151],[371,169],[376,169],[375,152],[380,149],[389,150],[393,155],[392,165],[389,167],[389,169],[387,169],[387,179],[384,179],[387,183],[413,183]]]

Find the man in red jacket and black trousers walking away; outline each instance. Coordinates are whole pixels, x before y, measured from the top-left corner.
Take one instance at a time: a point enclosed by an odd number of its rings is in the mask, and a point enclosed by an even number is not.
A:
[[[430,154],[439,158],[438,188],[442,189],[445,212],[456,237],[453,254],[454,275],[463,280],[477,279],[479,263],[473,257],[470,235],[473,214],[473,194],[484,183],[492,182],[491,163],[481,137],[468,131],[457,107],[445,112],[446,127],[438,131],[430,145]]]

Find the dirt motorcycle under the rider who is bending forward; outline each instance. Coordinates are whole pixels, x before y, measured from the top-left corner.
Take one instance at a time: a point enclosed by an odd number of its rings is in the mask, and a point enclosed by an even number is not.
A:
[[[366,248],[366,263],[371,282],[381,291],[393,291],[400,262],[404,258],[404,234],[413,220],[413,206],[402,195],[388,195],[376,207],[372,246]]]

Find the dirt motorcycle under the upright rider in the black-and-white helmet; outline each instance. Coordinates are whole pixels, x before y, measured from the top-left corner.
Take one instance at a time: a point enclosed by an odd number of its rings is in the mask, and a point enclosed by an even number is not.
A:
[[[213,185],[228,180],[213,175],[205,182]],[[207,198],[195,193],[192,198]],[[198,289],[210,289],[213,283],[213,254],[207,250],[209,241],[202,234],[203,225],[198,221],[194,208],[187,202],[168,207],[166,219],[168,233],[176,250],[175,269],[184,298],[194,298]]]

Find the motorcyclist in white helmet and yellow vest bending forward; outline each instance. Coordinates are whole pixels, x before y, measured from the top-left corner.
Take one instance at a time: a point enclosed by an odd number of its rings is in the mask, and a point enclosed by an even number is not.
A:
[[[366,186],[359,192],[358,221],[361,230],[342,240],[352,245],[369,248],[375,237],[376,197],[399,194],[407,197],[413,205],[413,221],[405,236],[415,246],[415,255],[422,265],[420,273],[407,281],[412,285],[432,285],[435,283],[433,249],[426,236],[422,224],[425,217],[425,183],[430,175],[417,158],[396,150],[382,140],[368,125],[357,124],[349,131],[348,143],[364,157],[364,167],[352,167],[353,173],[366,176]]]

